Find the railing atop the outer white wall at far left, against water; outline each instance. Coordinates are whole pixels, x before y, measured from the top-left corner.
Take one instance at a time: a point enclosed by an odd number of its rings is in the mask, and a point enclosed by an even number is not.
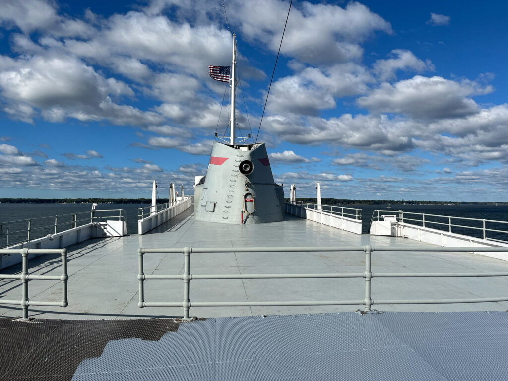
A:
[[[91,210],[7,221],[0,224],[0,247],[15,245],[21,242],[30,242],[48,234],[56,234],[68,229],[74,229],[79,226],[105,221],[107,219],[126,221],[125,210]]]

